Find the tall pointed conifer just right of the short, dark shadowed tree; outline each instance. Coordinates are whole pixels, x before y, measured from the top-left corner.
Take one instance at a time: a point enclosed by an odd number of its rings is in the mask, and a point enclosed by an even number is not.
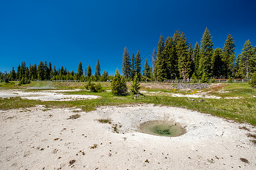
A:
[[[235,47],[233,37],[229,34],[222,48],[222,62],[224,63],[224,76],[226,78],[233,75],[234,59],[236,57]]]

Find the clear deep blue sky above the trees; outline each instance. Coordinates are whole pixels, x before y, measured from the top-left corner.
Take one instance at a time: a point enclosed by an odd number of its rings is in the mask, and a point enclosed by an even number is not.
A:
[[[243,1],[1,1],[0,71],[22,61],[40,61],[77,71],[121,71],[123,49],[141,53],[142,65],[164,39],[184,32],[195,46],[208,27],[213,47],[222,48],[230,33],[236,56],[246,40],[256,45],[256,2]]]

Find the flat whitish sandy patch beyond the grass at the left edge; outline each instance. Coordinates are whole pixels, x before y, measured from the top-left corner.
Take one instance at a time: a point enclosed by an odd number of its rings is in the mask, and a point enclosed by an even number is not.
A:
[[[21,97],[30,100],[42,101],[69,101],[69,100],[84,100],[84,99],[97,99],[95,95],[65,95],[61,92],[68,92],[73,90],[48,90],[40,92],[27,92],[20,90],[0,90],[0,98],[8,97]]]

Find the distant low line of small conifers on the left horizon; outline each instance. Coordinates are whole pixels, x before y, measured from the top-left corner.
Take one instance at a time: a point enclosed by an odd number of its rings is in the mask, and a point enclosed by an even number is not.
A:
[[[30,65],[26,66],[26,63],[23,61],[19,64],[17,71],[14,67],[10,73],[0,73],[0,79],[3,81],[7,77],[11,81],[20,81],[21,84],[26,84],[31,80],[81,80],[81,81],[102,81],[106,82],[109,79],[112,79],[113,76],[108,74],[108,71],[104,71],[101,75],[100,61],[97,61],[95,74],[92,74],[92,68],[90,65],[83,69],[82,63],[79,63],[77,72],[68,71],[67,67],[61,66],[59,69],[56,69],[55,65],[52,67],[51,62],[40,61],[39,65]]]

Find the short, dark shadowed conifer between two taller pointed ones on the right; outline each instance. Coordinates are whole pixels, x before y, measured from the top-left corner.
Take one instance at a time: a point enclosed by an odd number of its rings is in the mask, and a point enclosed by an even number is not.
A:
[[[216,48],[213,53],[213,65],[212,65],[212,74],[214,78],[223,78],[223,63],[222,63],[222,50],[220,48]]]

